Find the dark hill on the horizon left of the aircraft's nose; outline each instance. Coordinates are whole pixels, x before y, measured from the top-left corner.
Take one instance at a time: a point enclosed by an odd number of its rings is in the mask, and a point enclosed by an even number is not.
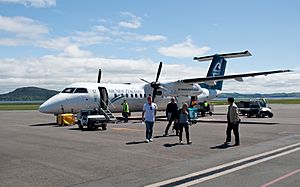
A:
[[[37,87],[18,88],[7,94],[0,94],[0,101],[45,101],[58,91]]]

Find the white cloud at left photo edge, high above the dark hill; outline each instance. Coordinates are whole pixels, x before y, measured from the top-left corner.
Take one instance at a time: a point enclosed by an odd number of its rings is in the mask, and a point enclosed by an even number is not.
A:
[[[0,16],[0,30],[17,36],[38,36],[48,33],[47,26],[27,17]]]

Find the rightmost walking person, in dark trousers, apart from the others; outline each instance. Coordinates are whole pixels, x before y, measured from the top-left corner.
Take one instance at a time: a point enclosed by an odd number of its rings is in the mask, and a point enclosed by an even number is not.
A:
[[[235,137],[235,144],[234,146],[240,145],[240,137],[239,137],[239,113],[238,113],[238,107],[234,103],[234,98],[229,97],[228,98],[228,111],[227,111],[227,129],[226,129],[226,141],[224,144],[229,144],[231,142],[231,131],[233,130],[234,137]]]

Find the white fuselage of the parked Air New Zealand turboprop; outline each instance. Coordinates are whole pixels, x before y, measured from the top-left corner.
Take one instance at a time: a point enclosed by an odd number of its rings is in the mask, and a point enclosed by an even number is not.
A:
[[[166,84],[167,87],[170,85]],[[172,86],[172,85],[171,85]],[[178,86],[177,86],[178,87]],[[157,95],[155,103],[160,110],[165,110],[170,101],[168,96],[177,96],[179,105],[184,102],[190,102],[190,96],[197,96],[197,100],[211,100],[220,95],[220,90],[208,90],[195,85],[189,86],[191,89],[199,89],[199,95],[193,95],[193,91],[188,90],[189,94],[183,93],[182,87],[177,88],[175,93],[169,93],[161,96]],[[174,91],[174,89],[170,89]],[[129,104],[130,111],[142,111],[143,104],[147,102],[146,97],[152,95],[153,89],[148,84],[109,84],[109,83],[74,83],[66,87],[62,92],[44,102],[39,111],[49,114],[74,113],[80,110],[96,109],[107,105],[112,112],[121,112],[124,100]],[[182,94],[178,94],[182,92]]]

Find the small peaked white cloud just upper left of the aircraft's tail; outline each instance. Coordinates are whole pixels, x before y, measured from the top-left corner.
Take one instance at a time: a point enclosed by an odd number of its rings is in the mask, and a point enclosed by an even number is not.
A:
[[[158,49],[158,52],[165,56],[170,57],[194,57],[197,55],[203,55],[210,50],[209,47],[197,47],[193,44],[193,41],[190,37],[187,37],[186,40],[182,43],[177,43],[169,47],[161,47]]]

